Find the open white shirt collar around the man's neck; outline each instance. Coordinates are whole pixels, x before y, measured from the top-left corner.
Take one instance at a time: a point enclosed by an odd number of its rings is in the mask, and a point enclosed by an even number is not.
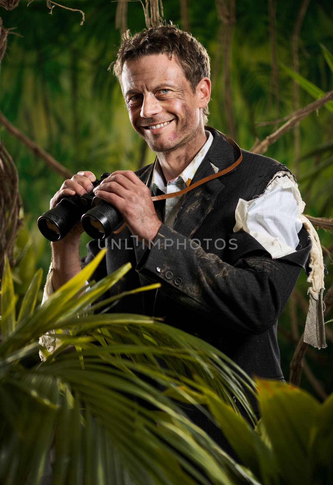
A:
[[[199,152],[195,155],[193,160],[187,165],[187,167],[184,168],[181,174],[178,175],[178,177],[173,178],[172,180],[169,180],[168,185],[182,185],[189,187],[191,181],[194,178],[194,175],[196,171],[198,170],[200,163],[204,160],[206,157],[207,151],[209,150],[212,142],[213,142],[213,135],[211,134],[210,131],[205,130],[207,141],[205,145],[203,145]],[[159,164],[159,159],[157,159],[153,171],[153,176],[152,176],[152,190],[153,193],[156,195],[157,189],[161,190],[166,193],[166,184],[165,184],[165,178],[162,172],[162,168]]]

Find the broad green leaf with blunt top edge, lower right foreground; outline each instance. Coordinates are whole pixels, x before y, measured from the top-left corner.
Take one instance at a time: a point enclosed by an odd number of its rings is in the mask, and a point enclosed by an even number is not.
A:
[[[257,380],[263,425],[285,484],[308,483],[311,427],[320,408],[309,393],[277,381]]]

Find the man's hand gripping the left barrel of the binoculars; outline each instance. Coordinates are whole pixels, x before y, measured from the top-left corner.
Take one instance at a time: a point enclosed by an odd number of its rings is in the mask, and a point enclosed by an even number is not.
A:
[[[50,209],[53,209],[53,207],[55,207],[63,197],[69,197],[75,194],[79,196],[87,194],[87,192],[93,190],[94,186],[92,182],[95,182],[95,180],[95,175],[93,172],[89,172],[89,170],[78,172],[77,175],[74,175],[71,179],[65,180],[58,192],[56,192],[51,198]],[[77,240],[81,236],[82,232],[84,232],[83,227],[79,221],[62,241],[68,243],[71,240]],[[56,244],[59,245],[59,242],[56,242]]]

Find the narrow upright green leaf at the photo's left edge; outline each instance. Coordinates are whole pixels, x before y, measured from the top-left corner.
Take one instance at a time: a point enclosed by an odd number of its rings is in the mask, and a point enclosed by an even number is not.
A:
[[[1,331],[3,340],[14,332],[16,327],[16,297],[9,260],[5,256],[1,281]]]

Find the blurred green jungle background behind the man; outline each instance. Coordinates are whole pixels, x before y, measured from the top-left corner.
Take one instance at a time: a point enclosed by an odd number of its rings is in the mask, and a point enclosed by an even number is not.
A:
[[[98,177],[106,171],[136,170],[153,162],[155,154],[132,129],[119,85],[108,72],[120,33],[127,27],[131,32],[139,31],[146,21],[140,1],[63,2],[82,10],[84,18],[79,11],[45,0],[34,0],[28,8],[24,0],[3,0],[0,5],[4,3],[17,4],[11,11],[0,9],[3,26],[16,28],[8,32],[8,47],[0,64],[1,124],[7,126],[9,121],[18,130],[16,136],[5,127],[0,131],[18,170],[22,198],[23,223],[13,271],[16,292],[23,295],[36,269],[42,267],[41,299],[50,246],[39,233],[36,220],[48,210],[50,198],[66,177],[61,170],[54,170],[45,154],[37,156],[33,146],[29,149],[22,144],[21,134],[60,162],[68,174],[91,170]],[[285,116],[333,89],[333,64],[330,66],[325,50],[333,52],[329,0],[164,0],[161,16],[190,31],[208,50],[212,80],[208,124],[244,149],[255,150],[286,121]],[[302,76],[298,83],[293,81],[292,71]],[[268,121],[274,123],[266,124]],[[267,147],[265,155],[287,165],[297,177],[306,203],[304,213],[325,219],[318,222],[325,226],[318,228],[318,235],[329,271],[325,287],[330,295],[332,101],[309,113]],[[87,241],[82,242],[82,254]],[[279,319],[286,379],[304,329],[308,286],[302,272]],[[326,313],[333,305],[330,298],[326,298]],[[330,318],[328,313],[325,320]],[[301,378],[301,387],[320,400],[333,391],[332,325],[325,325],[327,349],[308,349]]]

